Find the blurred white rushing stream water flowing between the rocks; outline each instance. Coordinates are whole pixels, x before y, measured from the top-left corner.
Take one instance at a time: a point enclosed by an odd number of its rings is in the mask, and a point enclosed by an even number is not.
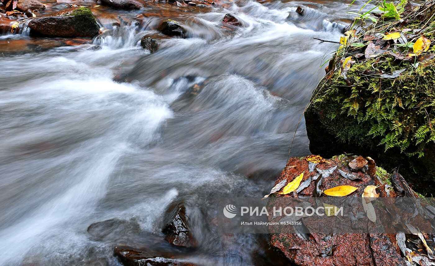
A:
[[[0,265],[120,265],[117,244],[171,250],[161,228],[174,201],[188,206],[198,242],[189,260],[278,264],[267,236],[215,234],[207,199],[262,196],[273,186],[321,65],[338,46],[313,37],[337,41],[351,19],[345,12],[362,3],[348,4],[100,8],[93,11],[106,30],[92,44],[3,53]],[[134,21],[147,12],[154,15]],[[225,13],[243,26],[223,26]],[[149,54],[140,39],[164,18],[187,25],[191,38],[165,39]],[[0,47],[30,42],[27,35],[0,36]],[[302,119],[291,156],[309,153]],[[108,219],[140,229],[90,237],[87,227]]]

